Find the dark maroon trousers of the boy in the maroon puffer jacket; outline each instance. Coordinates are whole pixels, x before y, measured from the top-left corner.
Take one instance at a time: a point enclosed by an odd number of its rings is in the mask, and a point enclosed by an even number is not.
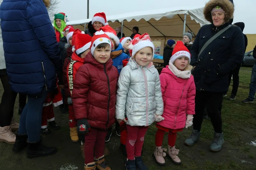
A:
[[[105,137],[107,136],[107,129],[92,128],[89,133],[85,134],[84,139],[84,163],[94,162],[95,158],[100,158],[104,155]]]

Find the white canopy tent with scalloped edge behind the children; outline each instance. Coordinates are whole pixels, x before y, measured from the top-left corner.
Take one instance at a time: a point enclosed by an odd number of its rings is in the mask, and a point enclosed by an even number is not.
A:
[[[152,41],[163,42],[163,49],[167,39],[180,38],[188,30],[192,31],[195,37],[201,26],[209,24],[204,18],[203,9],[202,6],[178,6],[112,15],[107,16],[107,20],[114,29],[122,26],[125,36],[132,34],[134,26],[139,27],[139,33],[147,32]],[[92,18],[68,21],[67,25],[84,30],[91,20]],[[161,51],[163,53],[163,50]]]

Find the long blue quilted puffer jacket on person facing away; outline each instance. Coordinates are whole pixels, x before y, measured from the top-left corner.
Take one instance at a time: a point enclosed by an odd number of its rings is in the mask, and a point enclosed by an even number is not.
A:
[[[0,18],[12,90],[36,96],[44,87],[55,89],[60,51],[43,1],[4,0]]]

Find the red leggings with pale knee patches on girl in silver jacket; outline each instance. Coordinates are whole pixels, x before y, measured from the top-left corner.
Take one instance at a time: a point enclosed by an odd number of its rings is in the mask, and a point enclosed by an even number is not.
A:
[[[126,125],[127,139],[126,152],[127,159],[133,160],[134,156],[141,156],[141,150],[144,143],[144,137],[148,130],[148,126],[130,126]]]

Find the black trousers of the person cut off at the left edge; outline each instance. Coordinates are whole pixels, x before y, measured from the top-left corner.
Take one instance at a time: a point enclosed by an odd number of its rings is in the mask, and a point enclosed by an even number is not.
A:
[[[7,74],[0,75],[4,92],[0,103],[0,126],[10,126],[13,117],[13,108],[15,99],[17,96],[16,92],[13,92]]]

